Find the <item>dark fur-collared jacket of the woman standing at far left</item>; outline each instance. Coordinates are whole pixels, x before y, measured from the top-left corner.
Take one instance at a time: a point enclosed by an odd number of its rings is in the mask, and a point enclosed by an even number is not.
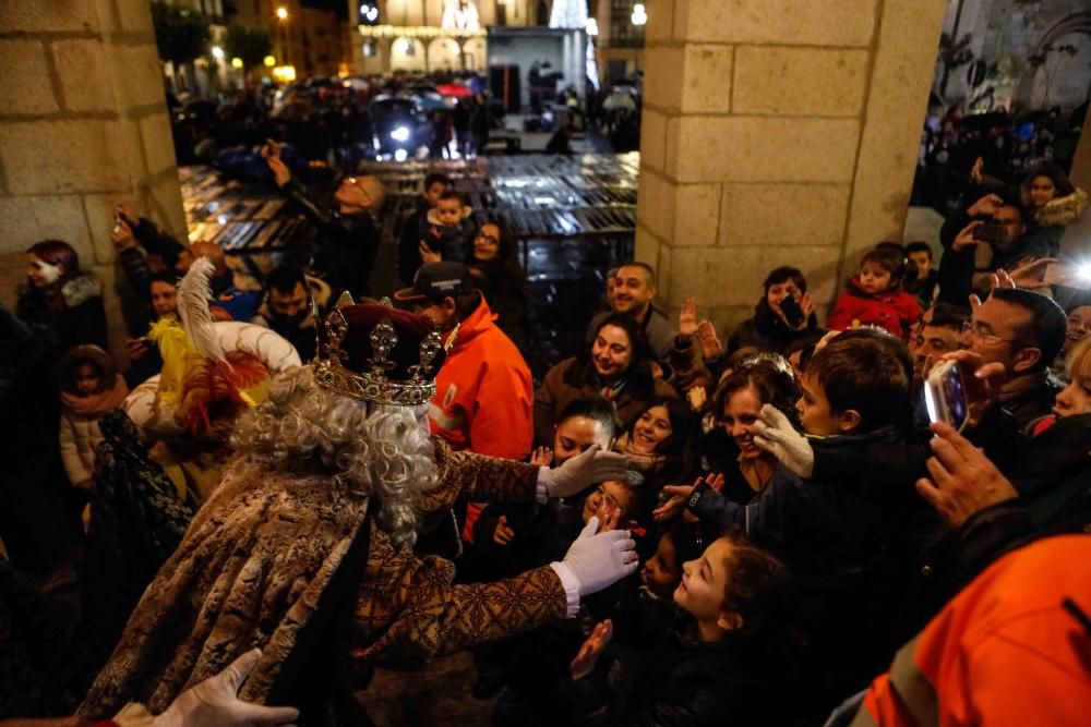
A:
[[[59,305],[36,288],[20,292],[16,314],[27,324],[50,329],[57,337],[58,351],[63,352],[81,343],[94,343],[105,349],[106,307],[103,305],[103,286],[89,272],[81,272],[60,289]]]

